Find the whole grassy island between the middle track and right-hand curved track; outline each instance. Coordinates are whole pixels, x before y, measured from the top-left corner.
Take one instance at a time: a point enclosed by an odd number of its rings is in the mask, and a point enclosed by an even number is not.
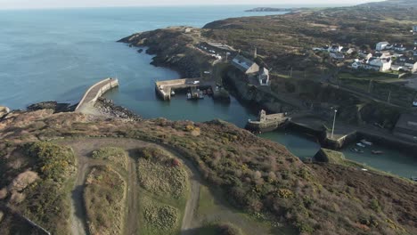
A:
[[[189,191],[182,163],[163,150],[138,150],[140,234],[180,234]]]

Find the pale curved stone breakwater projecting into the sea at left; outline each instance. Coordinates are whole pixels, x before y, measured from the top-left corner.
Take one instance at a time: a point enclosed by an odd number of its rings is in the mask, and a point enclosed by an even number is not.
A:
[[[114,87],[119,86],[119,80],[117,78],[106,78],[94,85],[92,85],[86,93],[84,94],[81,101],[79,101],[76,112],[90,113],[92,107],[94,107],[95,102],[103,93],[110,91]]]

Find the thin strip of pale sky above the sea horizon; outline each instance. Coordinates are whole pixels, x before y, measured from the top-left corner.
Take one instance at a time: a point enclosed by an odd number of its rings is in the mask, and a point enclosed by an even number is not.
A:
[[[11,8],[65,8],[101,6],[149,6],[149,5],[208,5],[208,4],[253,4],[294,5],[294,4],[363,4],[377,0],[0,0],[0,9]]]

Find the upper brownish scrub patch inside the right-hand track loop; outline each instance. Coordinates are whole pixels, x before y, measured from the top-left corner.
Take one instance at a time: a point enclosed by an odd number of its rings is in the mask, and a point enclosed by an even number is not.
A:
[[[184,167],[163,150],[139,150],[138,180],[143,189],[161,197],[184,199],[188,176]]]

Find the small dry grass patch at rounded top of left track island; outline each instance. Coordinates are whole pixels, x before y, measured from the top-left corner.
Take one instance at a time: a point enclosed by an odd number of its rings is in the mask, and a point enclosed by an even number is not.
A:
[[[100,150],[95,150],[92,158],[108,160],[120,168],[127,168],[127,152],[117,147],[104,147]]]

